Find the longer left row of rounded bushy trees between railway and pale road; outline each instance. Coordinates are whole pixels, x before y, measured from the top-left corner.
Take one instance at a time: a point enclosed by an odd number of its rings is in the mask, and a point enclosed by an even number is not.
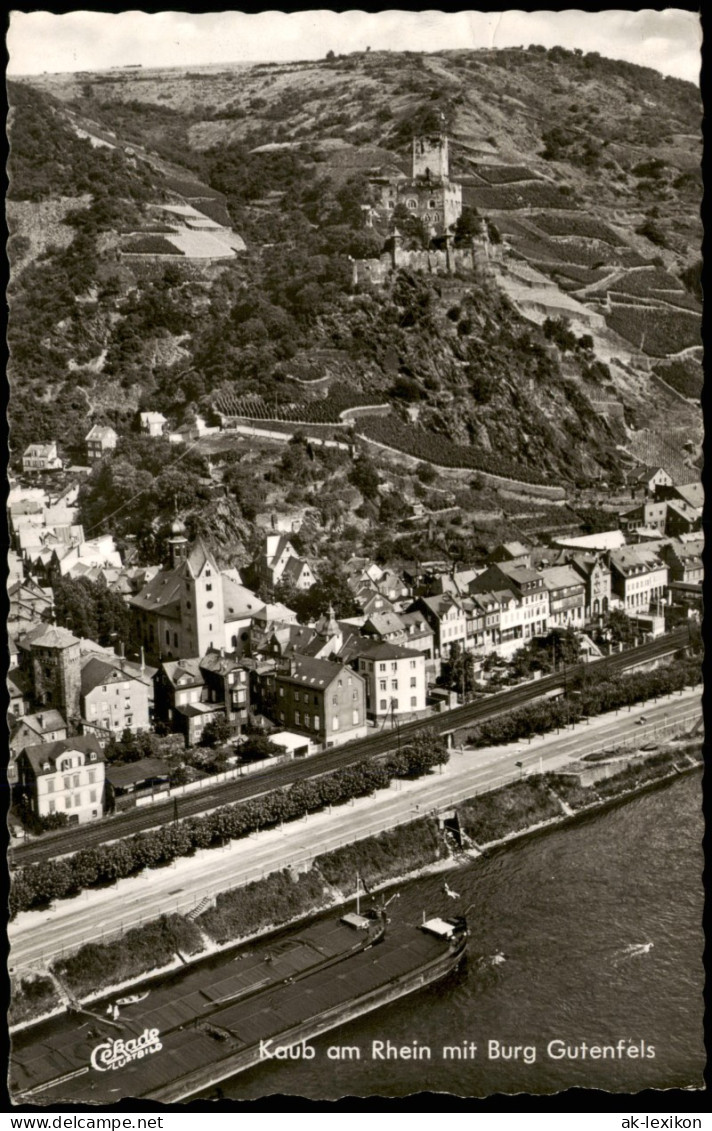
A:
[[[98,848],[84,848],[73,856],[28,865],[12,875],[10,917],[53,899],[73,896],[84,888],[114,883],[146,867],[171,863],[198,848],[215,847],[327,805],[344,804],[385,788],[393,778],[418,777],[448,758],[442,744],[416,741],[385,762],[367,759],[357,766],[297,782],[289,789],[272,789],[202,817],[174,821]]]

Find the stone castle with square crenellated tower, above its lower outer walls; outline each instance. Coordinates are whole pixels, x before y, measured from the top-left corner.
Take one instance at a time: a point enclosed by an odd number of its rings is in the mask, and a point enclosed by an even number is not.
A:
[[[462,213],[462,185],[450,180],[450,154],[444,133],[414,137],[411,175],[374,176],[379,201],[373,211],[389,221],[398,205],[423,221],[432,238],[446,235]]]

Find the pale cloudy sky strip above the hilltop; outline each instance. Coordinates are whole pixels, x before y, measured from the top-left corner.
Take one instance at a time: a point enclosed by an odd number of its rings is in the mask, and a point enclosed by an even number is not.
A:
[[[179,11],[12,11],[9,75],[43,71],[286,62],[327,51],[439,51],[451,48],[581,48],[700,81],[698,16],[660,11],[397,11],[314,9],[244,14]]]

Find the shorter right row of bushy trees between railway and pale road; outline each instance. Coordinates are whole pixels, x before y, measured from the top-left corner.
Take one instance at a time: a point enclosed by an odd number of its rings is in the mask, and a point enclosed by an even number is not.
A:
[[[480,723],[470,731],[468,743],[474,746],[494,746],[516,742],[518,739],[530,739],[535,734],[545,734],[555,727],[578,723],[590,715],[602,715],[605,711],[680,691],[698,680],[700,665],[692,661],[676,661],[668,667],[658,667],[652,672],[632,672],[615,680],[591,673],[580,690],[574,689],[568,696],[542,699],[520,707],[510,715],[500,715]]]

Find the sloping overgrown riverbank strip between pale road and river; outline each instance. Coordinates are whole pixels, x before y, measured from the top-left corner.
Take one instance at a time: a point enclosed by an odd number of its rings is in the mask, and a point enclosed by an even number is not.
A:
[[[674,768],[676,762],[679,770]],[[700,743],[688,742],[640,756],[594,785],[579,785],[575,775],[537,775],[463,802],[457,812],[466,836],[478,848],[488,849],[593,814],[700,765]],[[59,975],[69,994],[86,1003],[339,906],[351,896],[356,873],[373,891],[470,861],[467,852],[453,847],[434,818],[422,818],[323,854],[301,874],[285,870],[224,892],[194,922],[164,916],[113,942],[83,947],[55,961],[50,974]],[[45,996],[14,986],[10,1031],[64,1008],[47,1010],[49,1004]]]

